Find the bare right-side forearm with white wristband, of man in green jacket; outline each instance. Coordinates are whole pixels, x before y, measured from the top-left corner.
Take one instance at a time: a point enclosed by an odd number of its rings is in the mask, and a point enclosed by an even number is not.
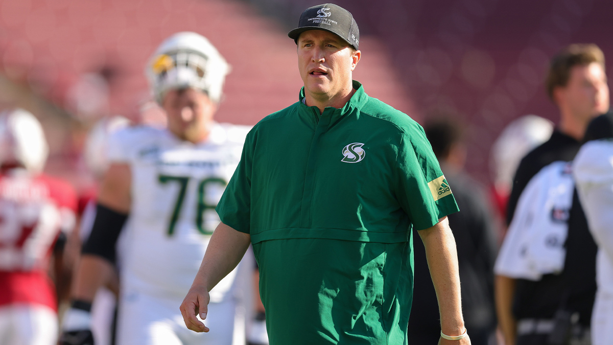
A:
[[[441,314],[441,331],[448,336],[461,335],[465,328],[460,298],[460,276],[455,239],[449,228],[449,220],[443,217],[433,227],[419,230],[419,236],[424,242],[430,276],[436,290]],[[466,345],[470,344],[470,338],[466,336],[459,341],[441,338],[440,344]]]

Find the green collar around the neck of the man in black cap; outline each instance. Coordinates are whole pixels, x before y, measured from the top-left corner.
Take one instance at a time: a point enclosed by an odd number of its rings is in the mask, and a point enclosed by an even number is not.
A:
[[[368,101],[368,95],[364,92],[364,87],[362,87],[362,83],[357,80],[352,81],[352,86],[356,90],[356,92],[351,96],[349,101],[342,108],[334,108],[334,107],[326,107],[324,112],[319,114],[319,108],[316,106],[307,106],[305,104],[305,88],[300,88],[299,94],[299,114],[307,115],[308,118],[314,120],[313,125],[318,125],[319,120],[321,118],[326,118],[327,128],[335,125],[338,121],[340,121],[346,115],[351,114],[356,109],[360,109],[364,104]]]

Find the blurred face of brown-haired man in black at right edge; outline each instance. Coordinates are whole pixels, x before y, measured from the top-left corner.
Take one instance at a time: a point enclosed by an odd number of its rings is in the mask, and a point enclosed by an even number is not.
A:
[[[607,76],[598,63],[571,68],[568,83],[558,88],[558,104],[585,122],[609,110]]]

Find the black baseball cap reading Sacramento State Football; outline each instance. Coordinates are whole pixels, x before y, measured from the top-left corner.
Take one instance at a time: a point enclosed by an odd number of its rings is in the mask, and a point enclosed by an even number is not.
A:
[[[349,45],[358,49],[360,29],[351,13],[335,4],[323,4],[309,7],[298,21],[298,27],[289,31],[287,36],[298,43],[298,36],[307,30],[325,30],[337,34]]]

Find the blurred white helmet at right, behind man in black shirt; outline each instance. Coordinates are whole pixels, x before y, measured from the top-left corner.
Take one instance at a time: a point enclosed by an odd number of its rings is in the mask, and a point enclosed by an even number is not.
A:
[[[554,124],[537,115],[524,115],[504,128],[490,151],[490,171],[499,192],[511,192],[519,162],[536,146],[546,142],[552,131]]]

